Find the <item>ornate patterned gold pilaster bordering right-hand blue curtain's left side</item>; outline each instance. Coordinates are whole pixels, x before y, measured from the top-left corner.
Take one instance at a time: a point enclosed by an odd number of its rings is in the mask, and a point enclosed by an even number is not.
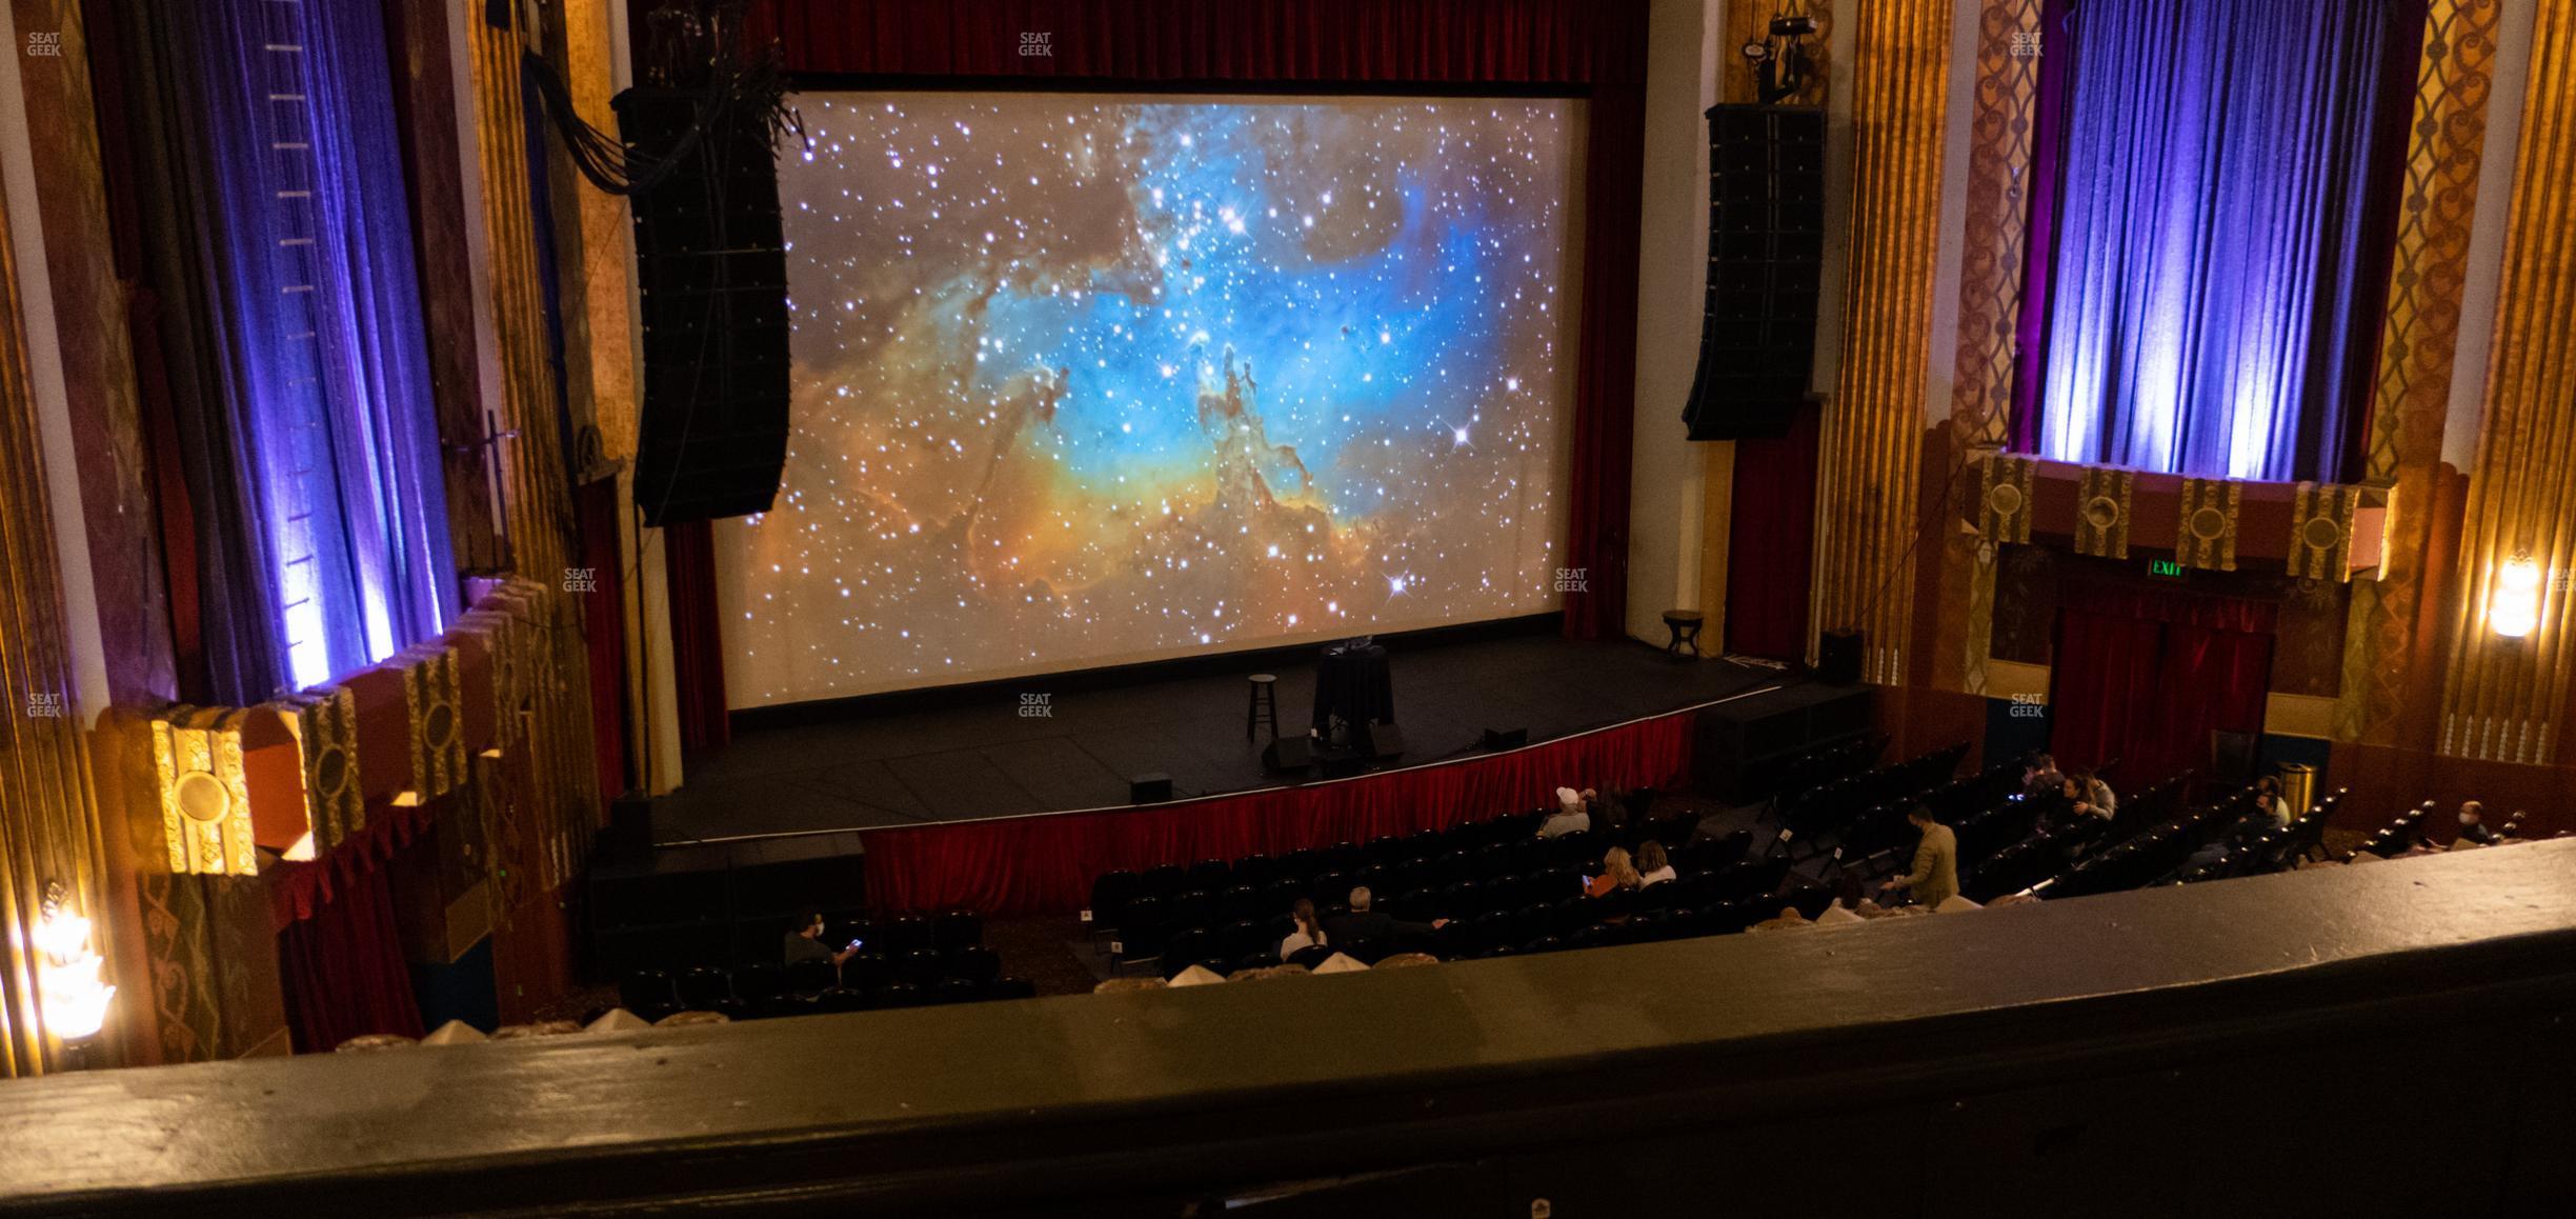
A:
[[[1958,345],[1950,353],[1950,446],[1955,466],[1976,464],[2012,438],[2012,366],[2020,353],[2022,260],[2030,240],[2030,137],[2038,119],[2040,0],[1986,0],[1976,18],[1976,101],[1968,116],[1968,209],[1958,260]],[[1976,492],[1976,479],[1950,479]],[[2027,487],[2025,487],[2027,490]],[[1935,505],[1945,521],[1968,505]],[[2027,536],[2030,515],[2020,515]],[[1940,533],[1932,686],[1986,693],[1994,649],[1994,559],[2009,541],[1932,526]]]

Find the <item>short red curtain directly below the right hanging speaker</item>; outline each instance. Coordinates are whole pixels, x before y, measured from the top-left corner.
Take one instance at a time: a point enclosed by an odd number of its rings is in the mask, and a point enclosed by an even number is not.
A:
[[[1816,567],[1816,441],[1824,407],[1803,405],[1788,436],[1736,441],[1726,523],[1726,649],[1806,660],[1806,595]]]

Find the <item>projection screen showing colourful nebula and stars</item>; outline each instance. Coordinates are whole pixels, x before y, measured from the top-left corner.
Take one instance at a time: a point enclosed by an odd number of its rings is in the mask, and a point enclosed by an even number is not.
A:
[[[1556,606],[1574,103],[796,106],[734,706]]]

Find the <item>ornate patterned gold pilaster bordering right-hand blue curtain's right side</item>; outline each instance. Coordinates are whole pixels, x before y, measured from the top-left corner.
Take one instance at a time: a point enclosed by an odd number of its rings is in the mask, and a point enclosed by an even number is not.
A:
[[[2424,18],[2362,469],[2365,482],[2396,487],[2396,521],[2378,580],[2352,585],[2334,704],[2334,737],[2347,742],[2398,745],[2398,711],[2421,680],[2424,552],[2432,549],[2442,428],[2458,371],[2499,21],[2499,0],[2434,0]]]

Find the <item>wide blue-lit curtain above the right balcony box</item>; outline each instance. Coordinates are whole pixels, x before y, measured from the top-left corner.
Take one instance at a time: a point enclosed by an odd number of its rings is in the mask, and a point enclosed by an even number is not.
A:
[[[2035,353],[2038,451],[2331,479],[2385,278],[2370,204],[2401,0],[2084,0]],[[2050,183],[2040,183],[2050,188]],[[2027,320],[2025,320],[2027,322]],[[2032,330],[2025,325],[2025,332]],[[2027,436],[2027,430],[2025,430]]]

